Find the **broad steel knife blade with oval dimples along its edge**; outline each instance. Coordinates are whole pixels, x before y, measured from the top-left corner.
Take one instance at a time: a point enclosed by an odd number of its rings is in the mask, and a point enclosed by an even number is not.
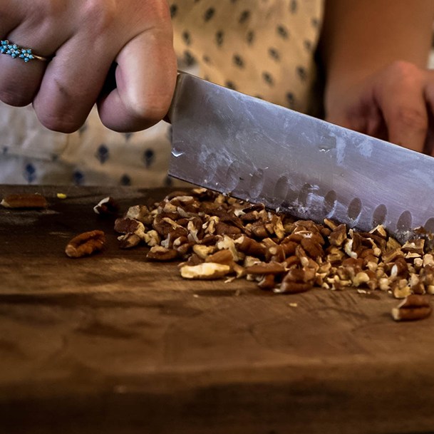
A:
[[[434,232],[434,158],[179,73],[169,174],[401,241]]]

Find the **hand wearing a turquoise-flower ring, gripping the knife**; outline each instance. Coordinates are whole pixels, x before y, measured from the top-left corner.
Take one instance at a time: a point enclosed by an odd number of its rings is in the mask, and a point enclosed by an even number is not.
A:
[[[0,38],[51,58],[25,63],[0,55],[4,103],[33,103],[41,123],[63,133],[80,128],[95,103],[102,122],[118,131],[148,128],[167,113],[176,80],[167,1],[0,0],[0,6]]]

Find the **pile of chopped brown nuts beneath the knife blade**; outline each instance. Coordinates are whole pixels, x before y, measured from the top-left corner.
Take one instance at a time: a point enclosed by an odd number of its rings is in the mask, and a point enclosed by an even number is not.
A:
[[[270,212],[210,190],[174,192],[115,221],[120,247],[148,244],[148,259],[180,260],[185,279],[257,281],[274,293],[321,287],[434,294],[434,252],[425,239],[401,245],[382,226],[370,232]]]

